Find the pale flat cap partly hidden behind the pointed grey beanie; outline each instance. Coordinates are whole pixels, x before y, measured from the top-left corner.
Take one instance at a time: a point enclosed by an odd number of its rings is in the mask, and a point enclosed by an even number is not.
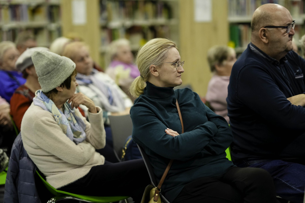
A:
[[[32,54],[37,51],[37,50],[49,50],[46,47],[33,47],[33,48],[28,48],[25,50],[17,59],[15,63],[15,67],[17,70],[22,72],[24,69],[27,67],[33,66],[33,61],[32,61]]]

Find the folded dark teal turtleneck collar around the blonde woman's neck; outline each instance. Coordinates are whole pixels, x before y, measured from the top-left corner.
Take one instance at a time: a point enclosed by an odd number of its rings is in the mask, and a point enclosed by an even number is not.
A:
[[[151,98],[167,98],[174,94],[174,87],[157,87],[146,82],[144,95]]]

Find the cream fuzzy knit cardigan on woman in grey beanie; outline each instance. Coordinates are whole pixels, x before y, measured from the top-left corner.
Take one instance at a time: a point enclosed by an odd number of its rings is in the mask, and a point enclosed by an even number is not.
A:
[[[102,109],[89,112],[89,121],[76,109],[77,116],[86,124],[86,140],[79,144],[71,141],[55,122],[51,112],[33,103],[21,122],[23,146],[38,169],[53,187],[63,187],[85,176],[92,166],[102,165],[105,158],[95,149],[104,148],[106,133]]]

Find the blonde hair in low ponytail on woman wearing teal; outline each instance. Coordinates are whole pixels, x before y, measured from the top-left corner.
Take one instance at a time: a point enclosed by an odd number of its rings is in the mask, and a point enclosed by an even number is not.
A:
[[[146,87],[146,81],[150,76],[149,67],[151,65],[162,66],[170,48],[177,48],[173,41],[155,38],[149,40],[139,49],[136,55],[136,64],[141,75],[136,77],[130,86],[129,91],[132,96],[137,98],[143,94],[144,88]]]

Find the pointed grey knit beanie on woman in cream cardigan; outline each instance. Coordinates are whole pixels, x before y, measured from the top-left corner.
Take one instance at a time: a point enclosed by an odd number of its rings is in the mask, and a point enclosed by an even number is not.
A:
[[[32,61],[43,92],[51,91],[62,84],[76,66],[71,59],[46,50],[35,51]]]

